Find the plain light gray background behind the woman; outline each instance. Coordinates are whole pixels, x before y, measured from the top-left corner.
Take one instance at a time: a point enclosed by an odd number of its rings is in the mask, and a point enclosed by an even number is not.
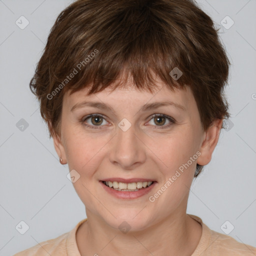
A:
[[[0,0],[0,255],[55,238],[85,218],[28,87],[55,18],[71,2]],[[226,94],[233,127],[221,131],[211,162],[193,182],[187,212],[221,233],[228,220],[230,236],[256,246],[256,1],[198,2],[220,27],[232,64]],[[21,15],[29,21],[24,29],[15,23]],[[228,29],[221,25],[226,15],[234,21]],[[28,123],[23,131],[16,126],[21,118]],[[23,235],[15,228],[21,220],[29,226]]]

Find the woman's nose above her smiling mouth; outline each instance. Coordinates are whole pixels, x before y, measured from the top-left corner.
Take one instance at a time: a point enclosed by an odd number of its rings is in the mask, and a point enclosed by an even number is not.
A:
[[[119,168],[132,170],[145,162],[145,145],[131,125],[126,131],[117,127],[110,147],[109,160]],[[140,133],[141,136],[141,133]]]

